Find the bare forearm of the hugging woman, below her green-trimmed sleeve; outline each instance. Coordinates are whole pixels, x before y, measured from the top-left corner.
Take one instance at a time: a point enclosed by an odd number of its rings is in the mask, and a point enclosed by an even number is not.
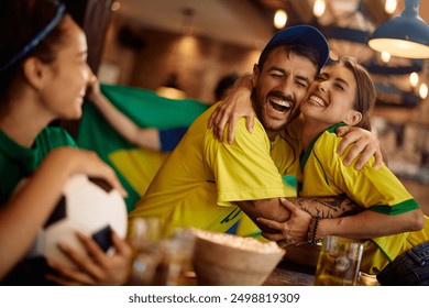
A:
[[[353,239],[371,239],[408,231],[418,231],[425,219],[420,209],[396,216],[365,210],[354,216],[321,219],[317,235],[339,235]]]

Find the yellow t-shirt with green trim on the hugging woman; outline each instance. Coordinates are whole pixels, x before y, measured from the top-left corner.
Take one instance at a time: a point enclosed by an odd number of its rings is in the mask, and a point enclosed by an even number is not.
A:
[[[419,208],[399,179],[386,167],[372,167],[372,158],[361,169],[344,166],[336,153],[341,138],[328,129],[308,146],[301,156],[302,187],[299,195],[338,196],[345,194],[365,209],[385,215],[398,215]],[[350,150],[350,148],[349,148]],[[365,242],[361,270],[377,274],[396,256],[414,245],[429,240],[429,219],[424,230],[375,238]]]

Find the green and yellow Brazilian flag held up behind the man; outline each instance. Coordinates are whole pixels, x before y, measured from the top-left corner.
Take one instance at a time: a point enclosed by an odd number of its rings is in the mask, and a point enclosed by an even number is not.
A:
[[[117,85],[101,85],[102,94],[140,128],[168,130],[189,127],[209,106],[193,99],[173,100],[153,91]],[[160,153],[129,143],[122,139],[90,102],[77,134],[77,144],[91,150],[110,164],[127,189],[128,211],[146,191],[168,153]]]

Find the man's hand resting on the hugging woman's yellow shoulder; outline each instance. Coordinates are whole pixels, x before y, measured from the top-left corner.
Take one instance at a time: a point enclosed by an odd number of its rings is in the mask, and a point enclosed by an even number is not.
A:
[[[342,155],[345,148],[353,144],[343,160],[345,166],[349,166],[359,155],[361,156],[354,165],[356,169],[361,169],[373,155],[375,157],[373,167],[378,169],[383,165],[380,141],[374,133],[355,127],[340,127],[337,129],[337,135],[343,138],[337,148],[338,155]]]

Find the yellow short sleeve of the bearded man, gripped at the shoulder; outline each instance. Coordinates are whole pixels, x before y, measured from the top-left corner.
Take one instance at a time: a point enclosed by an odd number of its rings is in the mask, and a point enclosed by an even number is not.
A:
[[[261,122],[256,120],[250,133],[245,119],[241,118],[234,142],[229,144],[227,138],[223,140],[215,140],[211,130],[205,135],[205,157],[215,173],[218,202],[285,196],[282,177],[270,156],[271,142]]]

